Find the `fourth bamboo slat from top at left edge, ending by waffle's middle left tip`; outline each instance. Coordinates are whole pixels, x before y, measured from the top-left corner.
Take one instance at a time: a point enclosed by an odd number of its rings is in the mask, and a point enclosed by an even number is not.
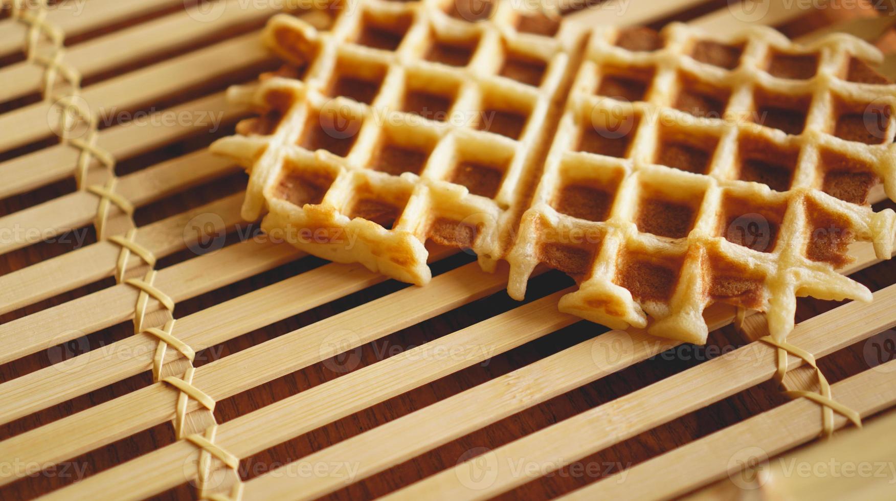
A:
[[[173,108],[157,111],[143,122],[127,122],[99,131],[97,143],[117,160],[127,160],[159,146],[197,133],[213,132],[212,119],[220,125],[246,115],[245,109],[229,106],[224,92],[195,99]],[[176,121],[162,117],[194,117]],[[73,176],[78,151],[67,144],[56,144],[13,160],[0,163],[0,198],[27,192],[39,186]]]

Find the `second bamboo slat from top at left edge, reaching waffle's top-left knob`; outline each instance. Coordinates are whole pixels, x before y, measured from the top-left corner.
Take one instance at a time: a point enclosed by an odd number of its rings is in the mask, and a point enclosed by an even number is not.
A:
[[[197,6],[144,22],[125,30],[91,39],[70,48],[65,63],[84,77],[106,72],[116,66],[209,39],[216,33],[239,26],[257,25],[277,13],[276,2],[227,0],[210,11],[208,21]],[[219,16],[220,17],[217,17]],[[14,99],[40,91],[43,68],[22,61],[0,69],[0,99]]]

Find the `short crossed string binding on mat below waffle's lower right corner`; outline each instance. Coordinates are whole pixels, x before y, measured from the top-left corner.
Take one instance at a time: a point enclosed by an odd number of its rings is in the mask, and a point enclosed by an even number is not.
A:
[[[849,409],[849,407],[833,399],[833,396],[831,394],[831,384],[828,383],[828,379],[824,376],[822,370],[818,368],[818,365],[815,363],[815,357],[812,353],[809,353],[808,351],[803,350],[798,346],[790,344],[787,341],[777,341],[771,336],[764,336],[760,338],[759,341],[770,344],[771,346],[778,349],[778,370],[775,373],[775,379],[777,379],[779,383],[783,384],[784,376],[786,376],[788,372],[788,354],[793,355],[797,358],[802,358],[806,362],[806,364],[815,369],[815,376],[818,377],[819,393],[806,392],[804,390],[790,390],[784,392],[784,394],[794,399],[800,397],[806,398],[822,406],[823,436],[828,437],[833,435],[833,413],[835,411],[838,414],[842,415],[844,418],[852,421],[852,423],[855,424],[858,428],[862,427],[862,417],[857,411]]]

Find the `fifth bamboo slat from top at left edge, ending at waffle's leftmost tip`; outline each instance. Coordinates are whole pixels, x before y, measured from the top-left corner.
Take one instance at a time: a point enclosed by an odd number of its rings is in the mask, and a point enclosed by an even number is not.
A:
[[[116,193],[134,207],[142,207],[237,171],[232,160],[203,149],[119,177]],[[98,205],[99,196],[77,191],[0,217],[0,235],[11,236],[0,238],[0,255],[87,226],[96,216]]]

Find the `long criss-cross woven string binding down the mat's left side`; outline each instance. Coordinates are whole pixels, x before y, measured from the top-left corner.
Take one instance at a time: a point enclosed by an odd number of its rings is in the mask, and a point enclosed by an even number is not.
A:
[[[172,333],[175,320],[173,318],[174,300],[162,290],[153,285],[156,272],[153,270],[156,264],[156,256],[151,249],[136,242],[136,229],[134,225],[134,204],[122,194],[116,193],[117,177],[115,173],[116,159],[107,150],[97,144],[99,138],[99,117],[90,110],[90,106],[82,98],[82,74],[72,65],[65,63],[65,32],[52,22],[47,21],[49,10],[47,0],[4,0],[4,4],[11,5],[12,19],[22,23],[27,28],[25,40],[25,54],[32,65],[43,68],[44,73],[41,82],[41,92],[44,99],[50,103],[51,109],[59,113],[57,133],[62,143],[68,144],[79,151],[75,179],[78,189],[95,194],[99,198],[94,227],[97,238],[107,240],[120,247],[116,262],[116,281],[126,283],[139,290],[137,302],[134,307],[134,332],[146,333],[158,340],[155,356],[152,364],[153,380],[163,382],[175,387],[179,392],[177,399],[177,417],[175,428],[177,437],[184,435],[185,416],[188,399],[200,402],[202,406],[211,411],[215,402],[207,393],[202,392],[193,384],[195,351],[184,341],[180,341]],[[57,91],[59,89],[59,91]],[[72,131],[82,130],[80,137],[75,137]],[[93,163],[105,168],[105,184],[88,185],[90,168]],[[111,207],[115,206],[125,214],[127,223],[131,227],[124,237],[120,235],[107,235],[108,219],[112,215]],[[149,268],[142,280],[126,279],[127,263],[131,255],[139,256]],[[149,299],[159,301],[162,307],[168,310],[169,320],[163,328],[149,327],[144,329],[144,317],[147,313]],[[183,378],[168,376],[161,378],[162,366],[168,345],[180,352],[190,366],[185,370]],[[213,416],[211,418],[213,420]],[[211,475],[211,456],[215,456],[224,462],[230,469],[236,470],[239,460],[233,454],[227,453],[213,444],[214,433],[217,425],[206,430],[206,436],[187,436],[186,439],[202,448],[200,462],[200,494],[202,497],[218,501],[238,501],[242,498],[243,486],[237,481],[229,496],[220,493],[206,492],[205,479]]]

